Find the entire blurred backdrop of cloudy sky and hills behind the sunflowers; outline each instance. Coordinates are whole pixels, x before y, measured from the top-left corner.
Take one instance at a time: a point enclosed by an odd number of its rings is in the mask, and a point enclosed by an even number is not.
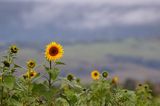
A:
[[[43,64],[51,41],[64,46],[62,76],[90,82],[98,69],[160,91],[160,0],[0,0],[1,56],[16,44],[17,64]]]

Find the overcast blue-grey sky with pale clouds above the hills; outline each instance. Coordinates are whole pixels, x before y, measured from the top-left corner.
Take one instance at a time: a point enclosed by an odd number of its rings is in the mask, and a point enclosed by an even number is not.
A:
[[[100,33],[109,28],[117,31],[114,27],[146,28],[157,34],[157,26],[160,0],[0,0],[1,40],[7,36],[36,38],[40,34],[49,39],[50,34],[58,32]]]

